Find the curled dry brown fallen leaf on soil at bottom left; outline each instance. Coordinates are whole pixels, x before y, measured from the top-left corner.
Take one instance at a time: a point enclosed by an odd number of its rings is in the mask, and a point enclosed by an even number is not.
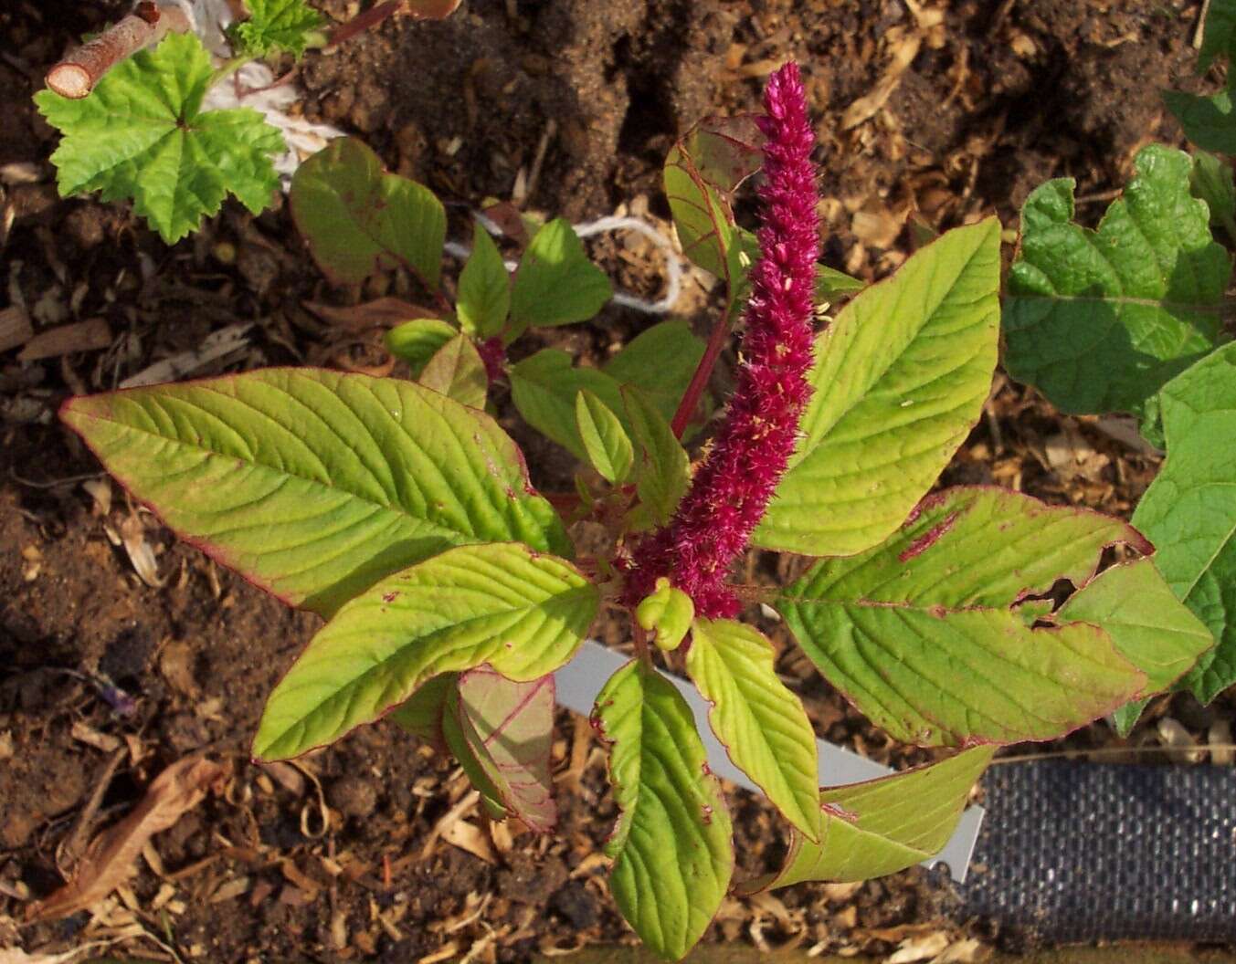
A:
[[[91,842],[73,880],[31,905],[26,918],[54,921],[101,901],[130,877],[147,840],[195,807],[224,772],[224,766],[201,756],[172,764],[154,777],[132,813]]]

